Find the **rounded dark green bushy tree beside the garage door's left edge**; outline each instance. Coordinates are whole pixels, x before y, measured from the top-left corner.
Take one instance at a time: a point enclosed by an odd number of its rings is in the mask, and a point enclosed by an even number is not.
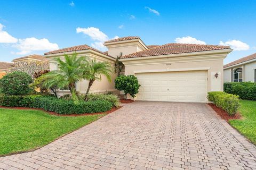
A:
[[[136,97],[140,87],[139,81],[134,75],[120,75],[115,79],[115,88],[124,91],[125,99],[127,99],[127,94]]]

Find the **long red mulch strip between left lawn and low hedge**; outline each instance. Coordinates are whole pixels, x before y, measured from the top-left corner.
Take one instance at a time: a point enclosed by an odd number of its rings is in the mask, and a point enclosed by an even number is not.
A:
[[[100,115],[100,114],[109,114],[111,112],[115,112],[117,109],[121,108],[121,107],[113,107],[111,108],[110,111],[107,111],[107,112],[99,112],[99,113],[84,113],[84,114],[59,114],[59,113],[56,113],[56,112],[47,112],[45,111],[44,109],[42,108],[29,108],[29,107],[5,107],[5,106],[0,106],[0,108],[9,108],[9,109],[18,109],[18,110],[37,110],[37,111],[44,111],[50,115],[55,115],[55,116],[73,116],[73,117],[76,117],[76,116],[89,116],[89,115]]]

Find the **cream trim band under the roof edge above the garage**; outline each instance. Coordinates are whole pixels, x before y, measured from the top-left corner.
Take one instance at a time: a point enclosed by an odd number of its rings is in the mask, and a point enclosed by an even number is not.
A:
[[[168,58],[168,57],[182,57],[182,56],[198,56],[198,55],[211,55],[211,54],[223,54],[230,53],[232,49],[220,49],[220,50],[210,50],[205,52],[193,52],[193,53],[179,53],[179,54],[167,54],[167,55],[154,55],[154,56],[145,56],[145,57],[132,57],[132,58],[122,58],[120,61],[126,62],[126,61],[138,61],[138,60],[149,60],[149,59],[159,59],[159,58]]]

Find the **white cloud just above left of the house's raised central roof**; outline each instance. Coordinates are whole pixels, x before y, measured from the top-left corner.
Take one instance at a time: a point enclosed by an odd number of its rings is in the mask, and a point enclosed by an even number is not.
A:
[[[108,40],[108,36],[103,33],[102,31],[100,31],[99,28],[95,28],[95,27],[88,27],[88,28],[80,28],[78,27],[76,29],[77,33],[84,33],[85,35],[89,36],[92,40],[98,40],[98,41],[107,41]]]

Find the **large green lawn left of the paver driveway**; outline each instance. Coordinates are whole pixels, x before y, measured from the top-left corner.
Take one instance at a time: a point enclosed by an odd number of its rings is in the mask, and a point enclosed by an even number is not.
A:
[[[36,110],[0,108],[0,155],[44,146],[103,115],[67,117]]]

